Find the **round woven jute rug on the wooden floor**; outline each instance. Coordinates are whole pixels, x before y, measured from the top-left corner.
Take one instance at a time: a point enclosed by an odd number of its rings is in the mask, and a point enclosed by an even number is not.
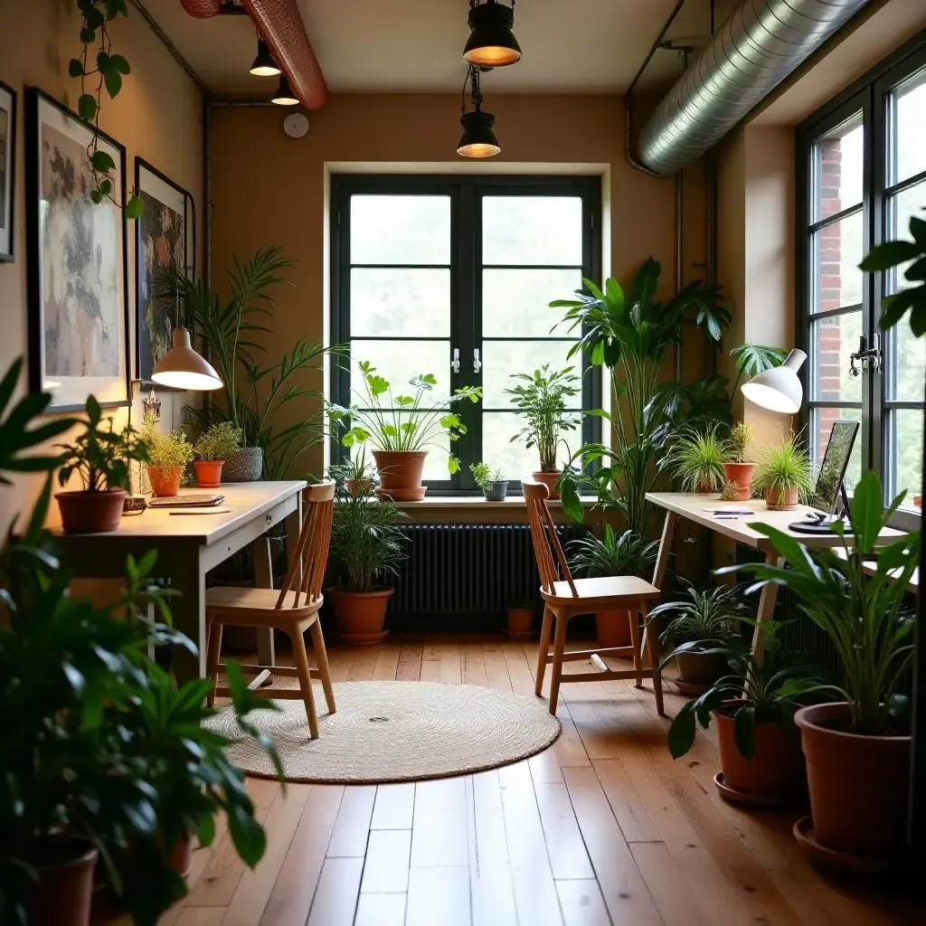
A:
[[[559,720],[539,699],[474,685],[442,682],[337,682],[337,712],[325,711],[319,685],[319,738],[309,739],[301,701],[275,701],[248,720],[280,752],[291,782],[407,782],[494,769],[540,752],[559,735]],[[237,739],[230,708],[206,721]],[[253,740],[228,749],[251,775],[273,777],[266,753]]]

